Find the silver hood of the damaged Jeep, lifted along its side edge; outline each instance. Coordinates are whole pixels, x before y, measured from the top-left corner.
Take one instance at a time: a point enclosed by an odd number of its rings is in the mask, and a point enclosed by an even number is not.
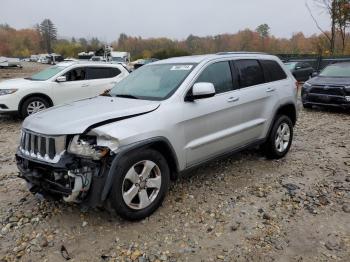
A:
[[[56,106],[27,117],[23,128],[46,135],[81,134],[96,124],[151,112],[159,102],[98,96]]]

